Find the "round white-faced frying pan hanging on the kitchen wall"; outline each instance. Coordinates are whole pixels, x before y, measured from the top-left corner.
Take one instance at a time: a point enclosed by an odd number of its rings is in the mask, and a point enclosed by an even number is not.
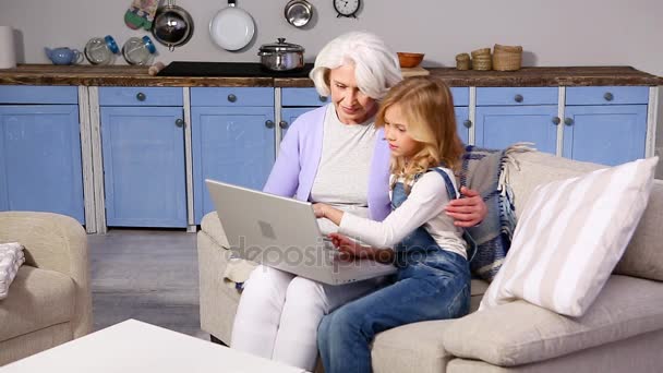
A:
[[[221,9],[209,22],[212,40],[226,50],[244,48],[255,33],[251,14],[240,9],[236,0],[228,0],[228,7]]]

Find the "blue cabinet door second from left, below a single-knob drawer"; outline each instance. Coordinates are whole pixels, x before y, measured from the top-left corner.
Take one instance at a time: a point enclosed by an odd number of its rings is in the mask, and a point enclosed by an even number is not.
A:
[[[101,107],[108,226],[186,227],[182,113]]]

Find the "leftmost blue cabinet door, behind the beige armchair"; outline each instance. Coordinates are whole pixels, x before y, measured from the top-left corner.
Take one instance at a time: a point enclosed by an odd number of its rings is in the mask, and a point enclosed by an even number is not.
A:
[[[76,105],[0,106],[0,210],[69,215],[84,224]]]

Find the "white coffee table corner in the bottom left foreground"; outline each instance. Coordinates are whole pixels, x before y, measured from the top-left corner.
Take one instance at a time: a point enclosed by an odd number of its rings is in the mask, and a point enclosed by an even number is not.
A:
[[[195,373],[274,372],[301,369],[128,320],[0,368],[0,372]]]

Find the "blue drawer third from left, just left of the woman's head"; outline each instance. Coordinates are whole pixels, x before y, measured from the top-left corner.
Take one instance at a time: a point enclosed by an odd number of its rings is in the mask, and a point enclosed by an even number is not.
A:
[[[193,87],[191,106],[274,106],[274,88]]]

